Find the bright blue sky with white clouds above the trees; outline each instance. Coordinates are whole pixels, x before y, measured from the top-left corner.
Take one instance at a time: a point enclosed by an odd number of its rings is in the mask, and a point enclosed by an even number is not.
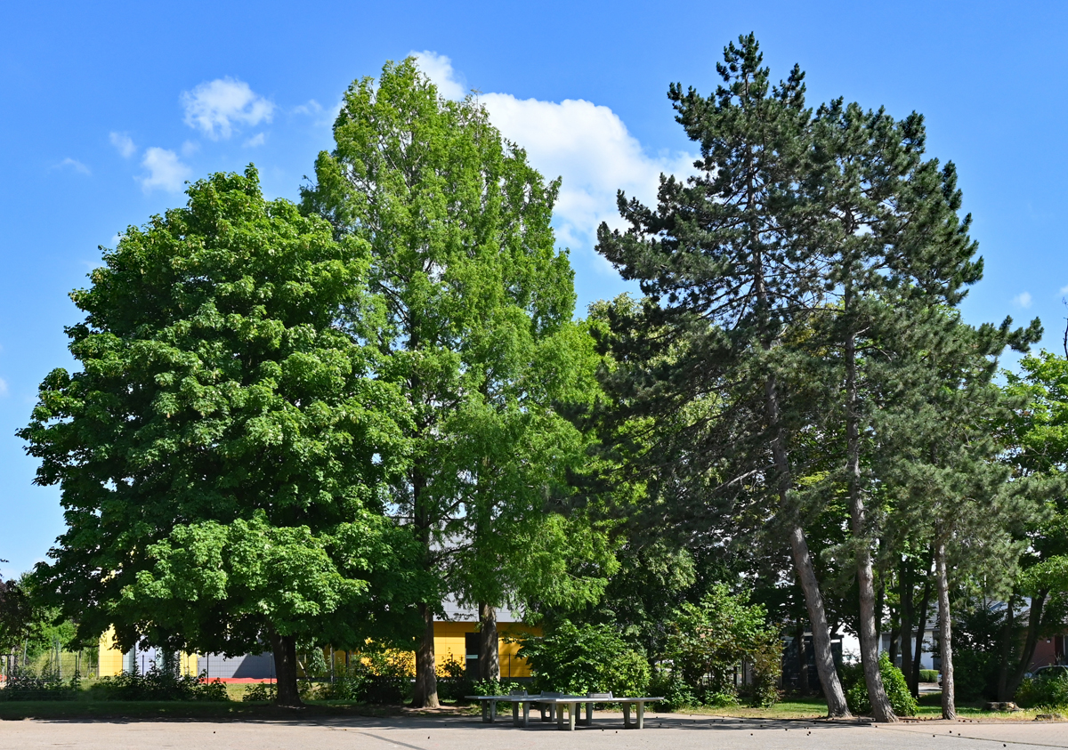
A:
[[[46,6],[47,5],[47,6]],[[184,179],[261,169],[297,197],[346,85],[422,52],[446,92],[482,92],[506,136],[564,188],[556,216],[580,306],[625,287],[592,250],[616,188],[649,198],[694,152],[668,84],[716,85],[723,45],[755,31],[774,75],[924,113],[954,160],[986,278],[973,323],[1047,327],[1058,348],[1068,263],[1068,6],[994,2],[166,2],[0,4],[0,575],[44,559],[62,529],[14,432],[36,386],[69,366],[67,293],[98,246],[183,202]]]

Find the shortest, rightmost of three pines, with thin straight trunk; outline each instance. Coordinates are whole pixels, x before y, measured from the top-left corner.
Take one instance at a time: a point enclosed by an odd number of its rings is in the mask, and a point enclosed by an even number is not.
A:
[[[1000,426],[1012,406],[992,381],[998,358],[1006,346],[1025,349],[1040,334],[1037,319],[1015,331],[1009,318],[973,328],[956,311],[931,308],[897,337],[905,395],[880,423],[884,450],[893,453],[880,475],[895,495],[888,525],[933,553],[947,719],[956,716],[952,578],[983,569],[1010,580],[1021,552],[1012,529],[1031,512],[998,460],[1005,448]]]

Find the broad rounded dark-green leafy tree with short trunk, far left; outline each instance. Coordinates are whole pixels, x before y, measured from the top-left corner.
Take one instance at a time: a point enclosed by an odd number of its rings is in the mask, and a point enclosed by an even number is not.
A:
[[[408,535],[383,513],[408,412],[339,326],[366,244],[264,200],[251,167],[188,194],[72,295],[80,371],[45,378],[20,432],[67,525],[38,590],[83,640],[269,643],[296,704],[298,637],[356,645],[414,614]]]

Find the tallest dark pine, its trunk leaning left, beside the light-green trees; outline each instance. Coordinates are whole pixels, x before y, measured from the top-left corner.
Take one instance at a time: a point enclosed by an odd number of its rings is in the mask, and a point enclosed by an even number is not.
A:
[[[659,301],[661,309],[651,312],[662,325],[700,331],[702,324],[711,324],[710,332],[698,333],[708,345],[689,347],[697,356],[686,358],[695,382],[711,385],[716,373],[724,372],[722,362],[734,360],[728,401],[747,405],[752,421],[741,432],[759,435],[764,444],[763,452],[754,449],[750,455],[765,453],[771,470],[755,469],[763,462],[753,460],[747,471],[726,478],[725,486],[738,487],[744,476],[747,484],[753,483],[751,489],[774,498],[804,591],[829,713],[846,716],[827,612],[794,493],[790,412],[800,407],[791,406],[784,359],[788,349],[783,347],[784,337],[819,307],[824,290],[815,259],[796,241],[795,229],[811,110],[801,71],[795,67],[773,85],[761,60],[755,37],[742,36],[738,46],[732,43],[724,50],[724,62],[717,65],[723,83],[711,96],[671,88],[676,119],[701,144],[701,173],[686,183],[662,179],[656,209],[621,194],[619,209],[630,229],[621,234],[602,224],[598,249],[624,278],[637,279],[642,292]],[[675,370],[669,381],[685,380]]]

